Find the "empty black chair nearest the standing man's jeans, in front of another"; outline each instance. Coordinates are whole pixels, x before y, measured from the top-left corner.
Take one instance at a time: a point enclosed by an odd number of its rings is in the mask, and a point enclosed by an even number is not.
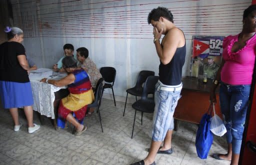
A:
[[[153,113],[153,111],[154,111],[154,98],[148,97],[148,94],[154,94],[154,86],[155,86],[156,82],[158,81],[158,78],[159,78],[158,76],[152,76],[152,75],[148,76],[146,78],[145,84],[143,86],[141,99],[137,100],[136,102],[134,102],[131,105],[132,108],[135,109],[131,138],[133,137],[134,123],[135,123],[137,110],[142,112],[141,113],[141,125],[142,125],[143,112]]]

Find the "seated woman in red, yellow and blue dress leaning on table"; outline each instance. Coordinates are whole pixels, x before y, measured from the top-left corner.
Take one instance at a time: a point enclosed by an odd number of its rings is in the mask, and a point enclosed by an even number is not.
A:
[[[58,107],[57,126],[64,128],[65,120],[75,126],[75,135],[80,135],[86,126],[84,126],[83,118],[93,99],[93,90],[91,88],[89,76],[82,68],[77,68],[76,60],[72,56],[66,56],[62,59],[62,67],[68,73],[67,76],[59,80],[43,78],[40,81],[53,84],[55,86],[67,85],[69,94],[62,98]],[[73,117],[74,113],[76,119]]]

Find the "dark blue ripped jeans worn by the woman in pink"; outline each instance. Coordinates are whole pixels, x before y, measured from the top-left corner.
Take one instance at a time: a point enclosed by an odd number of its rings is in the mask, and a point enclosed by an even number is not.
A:
[[[220,109],[226,126],[227,143],[232,143],[232,153],[239,154],[250,85],[228,85],[220,83],[219,101]]]

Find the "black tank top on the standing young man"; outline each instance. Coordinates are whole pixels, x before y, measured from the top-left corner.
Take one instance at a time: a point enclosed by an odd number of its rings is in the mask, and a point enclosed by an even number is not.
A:
[[[159,64],[159,80],[165,85],[178,85],[181,83],[182,66],[185,62],[186,44],[177,47],[169,63]]]

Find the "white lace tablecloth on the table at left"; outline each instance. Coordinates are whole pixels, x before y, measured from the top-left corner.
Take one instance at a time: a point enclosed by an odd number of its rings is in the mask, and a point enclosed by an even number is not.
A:
[[[48,68],[39,68],[31,71],[29,79],[31,83],[34,104],[32,105],[33,110],[38,111],[41,115],[55,118],[53,102],[55,99],[54,92],[59,89],[66,88],[66,86],[54,86],[52,84],[40,82],[42,78],[49,79],[60,79],[65,76],[61,74],[59,76],[51,76],[52,70]]]

